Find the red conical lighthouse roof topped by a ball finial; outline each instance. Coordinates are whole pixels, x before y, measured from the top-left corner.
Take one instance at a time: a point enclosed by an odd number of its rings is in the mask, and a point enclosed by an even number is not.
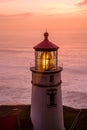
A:
[[[57,45],[48,40],[48,36],[49,34],[45,32],[44,40],[34,47],[36,51],[56,51],[59,48]]]

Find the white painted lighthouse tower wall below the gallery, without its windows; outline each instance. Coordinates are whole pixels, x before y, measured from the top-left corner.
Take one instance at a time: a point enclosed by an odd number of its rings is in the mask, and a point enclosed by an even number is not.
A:
[[[54,82],[51,85],[60,82],[60,73],[51,74],[54,75]],[[34,130],[64,130],[61,85],[56,87],[38,87],[35,85],[50,85],[49,76],[49,74],[42,75],[33,72],[32,80],[34,84],[32,86],[31,119]],[[57,90],[56,107],[48,107],[47,91],[49,89]]]

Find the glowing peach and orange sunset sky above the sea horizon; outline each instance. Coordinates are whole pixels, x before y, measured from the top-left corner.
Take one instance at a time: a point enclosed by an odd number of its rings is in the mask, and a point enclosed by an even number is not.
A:
[[[0,0],[0,28],[87,28],[87,0]]]

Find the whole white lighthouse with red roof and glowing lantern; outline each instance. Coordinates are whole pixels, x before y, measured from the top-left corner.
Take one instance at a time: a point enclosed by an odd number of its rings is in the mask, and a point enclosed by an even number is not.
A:
[[[48,39],[34,47],[35,66],[32,71],[31,120],[34,130],[64,130],[61,95],[61,71],[58,65],[59,47]]]

